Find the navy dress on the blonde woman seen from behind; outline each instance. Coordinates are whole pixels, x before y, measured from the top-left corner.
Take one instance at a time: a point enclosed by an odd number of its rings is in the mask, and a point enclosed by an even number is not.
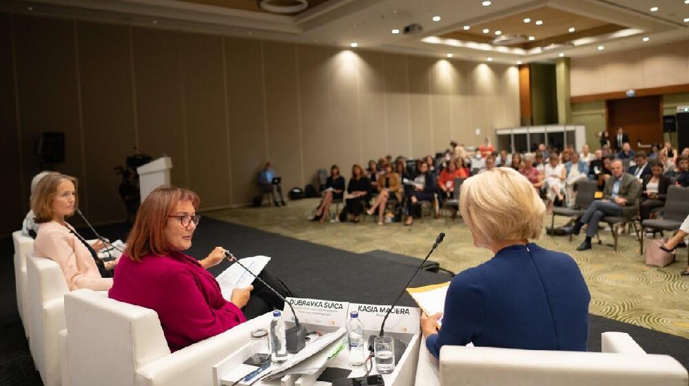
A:
[[[538,245],[511,245],[452,279],[442,328],[426,339],[442,345],[586,351],[588,287],[568,255]]]

